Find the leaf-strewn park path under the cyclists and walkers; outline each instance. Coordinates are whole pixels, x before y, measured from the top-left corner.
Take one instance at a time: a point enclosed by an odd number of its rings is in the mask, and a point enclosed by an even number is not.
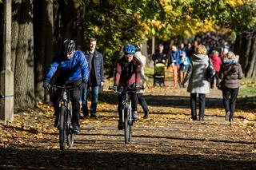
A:
[[[74,147],[65,151],[58,148],[52,108],[18,112],[14,123],[0,124],[0,169],[256,169],[255,109],[238,105],[230,125],[215,89],[205,121],[190,121],[189,93],[166,83],[147,90],[150,117],[134,125],[131,144],[124,144],[115,96],[106,91],[99,117],[83,119]]]

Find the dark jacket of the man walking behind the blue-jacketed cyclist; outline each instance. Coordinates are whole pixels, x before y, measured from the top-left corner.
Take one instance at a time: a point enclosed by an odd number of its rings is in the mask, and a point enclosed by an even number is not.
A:
[[[86,51],[85,56],[86,56],[86,60],[89,63],[90,52],[88,50]],[[103,57],[102,57],[102,53],[99,53],[97,50],[95,50],[94,52],[94,57],[92,59],[92,68],[90,69],[90,71],[94,71],[94,76],[95,76],[97,85],[100,85],[101,81],[104,82]],[[89,75],[91,75],[91,73]]]

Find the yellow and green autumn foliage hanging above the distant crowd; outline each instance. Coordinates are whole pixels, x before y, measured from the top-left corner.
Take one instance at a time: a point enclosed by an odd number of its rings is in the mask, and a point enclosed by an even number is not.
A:
[[[252,30],[256,24],[255,11],[254,0],[87,1],[85,38],[107,39],[105,47],[119,48],[126,42],[152,37],[190,37],[216,26]]]

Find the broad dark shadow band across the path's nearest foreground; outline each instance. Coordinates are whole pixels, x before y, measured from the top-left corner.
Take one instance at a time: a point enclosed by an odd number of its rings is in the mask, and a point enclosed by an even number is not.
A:
[[[243,155],[241,155],[242,157]],[[37,159],[34,159],[37,157]],[[239,157],[238,155],[236,157]],[[3,159],[5,158],[5,159]],[[1,169],[255,169],[256,161],[222,156],[0,148]]]

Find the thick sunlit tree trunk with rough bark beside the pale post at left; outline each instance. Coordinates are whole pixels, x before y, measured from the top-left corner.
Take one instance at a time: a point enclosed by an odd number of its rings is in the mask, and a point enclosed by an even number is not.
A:
[[[33,107],[35,101],[32,0],[15,0],[14,6],[14,103],[15,107],[28,108]]]

